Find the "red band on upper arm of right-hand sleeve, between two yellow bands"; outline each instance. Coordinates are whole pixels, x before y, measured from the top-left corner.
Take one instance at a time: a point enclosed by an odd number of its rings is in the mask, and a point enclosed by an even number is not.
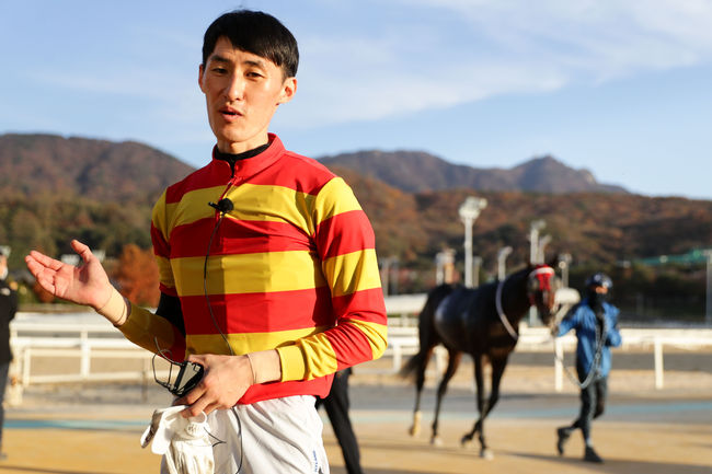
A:
[[[345,229],[361,229],[361,232],[344,232]],[[363,210],[343,212],[321,222],[315,240],[322,259],[376,246],[371,224]]]

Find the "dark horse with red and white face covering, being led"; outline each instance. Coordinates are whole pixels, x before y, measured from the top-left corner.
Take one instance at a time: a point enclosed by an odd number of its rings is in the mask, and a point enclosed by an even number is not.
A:
[[[517,345],[519,321],[531,305],[539,310],[543,323],[553,315],[555,276],[550,265],[529,265],[503,281],[494,281],[479,288],[440,285],[427,297],[418,316],[421,348],[401,370],[402,375],[416,372],[416,395],[411,435],[420,432],[421,392],[425,382],[425,368],[433,350],[443,344],[448,350],[448,366],[437,391],[432,443],[439,443],[438,415],[447,384],[455,374],[462,352],[474,360],[476,402],[480,418],[472,430],[462,437],[462,444],[480,432],[480,454],[491,458],[484,440],[484,418],[499,397],[499,382],[507,366],[509,354]],[[482,368],[486,360],[492,365],[492,388],[489,401],[484,396]]]

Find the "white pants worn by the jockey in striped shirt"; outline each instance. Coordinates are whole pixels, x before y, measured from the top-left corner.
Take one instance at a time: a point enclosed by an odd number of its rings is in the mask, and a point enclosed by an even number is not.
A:
[[[215,474],[329,474],[313,396],[218,409],[208,425]]]

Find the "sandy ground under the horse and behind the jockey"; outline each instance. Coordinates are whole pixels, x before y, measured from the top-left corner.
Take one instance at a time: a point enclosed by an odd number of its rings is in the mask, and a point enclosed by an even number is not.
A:
[[[573,436],[566,455],[554,450],[555,428],[578,408],[576,389],[553,391],[551,355],[517,354],[503,396],[486,424],[494,460],[462,448],[475,416],[471,363],[463,363],[444,402],[441,447],[429,443],[434,373],[423,398],[423,433],[411,438],[414,389],[395,375],[376,375],[370,362],[352,377],[352,418],[370,474],[448,473],[712,473],[712,352],[666,352],[665,389],[654,390],[651,354],[615,355],[607,413],[594,425],[602,465],[583,463]],[[543,359],[541,359],[543,358]],[[542,362],[543,361],[543,365]],[[51,361],[46,361],[48,368]],[[65,363],[55,360],[54,363]],[[157,473],[160,460],[139,447],[151,413],[170,403],[163,389],[140,384],[30,386],[7,408],[0,474]],[[332,472],[343,474],[341,451],[325,420]]]

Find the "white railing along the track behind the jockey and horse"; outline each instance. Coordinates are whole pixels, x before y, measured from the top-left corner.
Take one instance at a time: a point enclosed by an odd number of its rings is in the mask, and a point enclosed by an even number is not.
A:
[[[425,294],[387,298],[389,314],[401,314],[389,320],[389,345],[384,358],[391,359],[390,367],[369,367],[366,372],[395,373],[403,366],[403,358],[418,350],[416,320],[413,313],[420,311]],[[664,388],[664,348],[684,347],[686,349],[712,346],[712,328],[623,328],[623,349],[652,348],[654,357],[655,386]],[[15,360],[12,373],[22,386],[36,383],[58,383],[77,381],[140,380],[153,377],[152,354],[135,346],[103,317],[94,313],[74,313],[56,316],[20,313],[11,323],[11,344]],[[546,327],[520,325],[518,351],[551,351],[563,359],[564,351],[574,350],[576,339],[572,334],[553,339]],[[436,370],[445,367],[445,350],[436,350]],[[34,357],[77,357],[79,370],[70,373],[34,373]],[[97,371],[92,360],[140,359],[140,369],[127,371]],[[552,358],[553,359],[553,358]],[[164,374],[161,372],[161,374]],[[561,391],[564,370],[554,361],[554,388]]]

